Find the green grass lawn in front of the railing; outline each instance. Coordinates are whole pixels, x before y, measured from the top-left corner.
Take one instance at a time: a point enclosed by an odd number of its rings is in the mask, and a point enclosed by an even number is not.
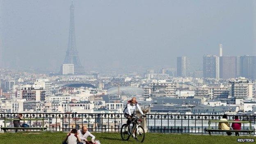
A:
[[[138,144],[135,139],[122,141],[119,133],[92,133],[101,144]],[[0,144],[62,144],[66,133],[0,133]],[[235,144],[238,138],[247,136],[187,135],[146,133],[143,144]],[[250,143],[250,142],[249,142]],[[252,143],[252,142],[251,142]]]

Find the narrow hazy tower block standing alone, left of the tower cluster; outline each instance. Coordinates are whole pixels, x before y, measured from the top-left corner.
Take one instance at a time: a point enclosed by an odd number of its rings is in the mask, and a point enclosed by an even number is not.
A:
[[[188,57],[177,57],[177,76],[189,76],[190,61]]]

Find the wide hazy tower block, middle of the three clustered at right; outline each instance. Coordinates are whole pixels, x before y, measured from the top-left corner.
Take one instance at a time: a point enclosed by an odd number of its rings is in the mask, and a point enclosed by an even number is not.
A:
[[[219,57],[219,76],[223,79],[235,78],[237,57]]]

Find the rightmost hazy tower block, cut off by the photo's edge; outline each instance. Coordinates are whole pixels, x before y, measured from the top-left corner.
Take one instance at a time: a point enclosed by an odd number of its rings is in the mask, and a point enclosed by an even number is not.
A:
[[[239,72],[241,77],[256,79],[256,56],[241,56]]]

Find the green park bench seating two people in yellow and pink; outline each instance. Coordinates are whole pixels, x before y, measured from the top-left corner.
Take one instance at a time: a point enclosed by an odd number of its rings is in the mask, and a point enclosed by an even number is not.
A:
[[[250,123],[249,129],[245,130],[219,130],[219,129],[213,129],[210,128],[210,123]],[[220,120],[209,120],[209,127],[205,129],[207,132],[209,132],[209,135],[211,135],[211,132],[244,132],[249,133],[251,136],[251,133],[254,132],[254,129],[251,129],[251,121],[220,121]]]

